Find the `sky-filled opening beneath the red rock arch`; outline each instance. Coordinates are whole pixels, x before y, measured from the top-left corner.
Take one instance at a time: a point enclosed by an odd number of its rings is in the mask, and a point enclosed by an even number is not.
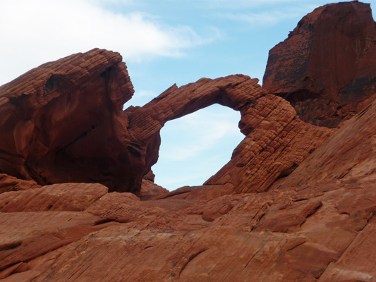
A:
[[[214,104],[169,121],[161,130],[155,183],[168,190],[202,185],[230,159],[244,135],[238,111]]]

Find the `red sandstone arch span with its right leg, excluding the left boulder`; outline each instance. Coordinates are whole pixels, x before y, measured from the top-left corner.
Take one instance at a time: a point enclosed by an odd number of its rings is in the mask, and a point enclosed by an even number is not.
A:
[[[289,175],[333,130],[300,121],[289,102],[268,94],[257,82],[246,75],[203,78],[182,87],[174,85],[145,106],[127,109],[134,151],[152,159],[152,166],[166,122],[212,104],[228,106],[241,112],[239,128],[245,138],[229,164],[205,185],[227,184],[225,193],[267,190],[274,180]]]

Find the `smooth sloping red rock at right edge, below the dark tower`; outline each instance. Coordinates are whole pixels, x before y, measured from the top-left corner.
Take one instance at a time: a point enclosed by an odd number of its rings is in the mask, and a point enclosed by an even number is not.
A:
[[[307,161],[296,168],[280,188],[322,180],[376,180],[376,102],[351,118]]]

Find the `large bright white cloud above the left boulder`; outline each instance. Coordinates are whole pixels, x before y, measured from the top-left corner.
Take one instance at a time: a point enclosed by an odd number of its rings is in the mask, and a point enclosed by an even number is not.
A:
[[[145,13],[114,13],[104,8],[108,4],[124,7],[133,1],[1,0],[0,85],[46,61],[95,47],[119,51],[124,61],[142,61],[182,56],[213,39]]]

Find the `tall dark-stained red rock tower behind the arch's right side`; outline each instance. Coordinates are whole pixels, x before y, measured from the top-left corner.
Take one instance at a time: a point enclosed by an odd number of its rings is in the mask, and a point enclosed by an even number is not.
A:
[[[336,127],[372,102],[376,23],[370,4],[329,4],[305,16],[269,51],[262,87],[303,121]]]

